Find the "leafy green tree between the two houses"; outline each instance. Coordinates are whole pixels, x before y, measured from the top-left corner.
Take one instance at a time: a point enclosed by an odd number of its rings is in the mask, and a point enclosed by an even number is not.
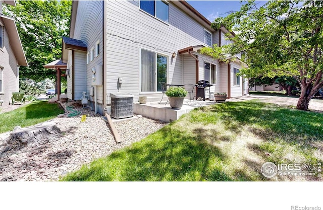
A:
[[[20,68],[20,78],[41,81],[56,77],[44,64],[61,58],[62,36],[68,36],[72,1],[16,1],[4,5],[4,14],[16,19],[29,66]]]

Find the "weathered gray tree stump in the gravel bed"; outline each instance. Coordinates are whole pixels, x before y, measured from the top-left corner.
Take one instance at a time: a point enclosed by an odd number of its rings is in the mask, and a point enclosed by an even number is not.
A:
[[[34,147],[62,137],[62,131],[54,124],[21,128],[11,133],[9,142],[19,141],[23,145]]]

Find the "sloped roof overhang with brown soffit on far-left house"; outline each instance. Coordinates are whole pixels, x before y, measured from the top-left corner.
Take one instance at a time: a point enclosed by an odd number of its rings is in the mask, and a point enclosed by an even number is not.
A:
[[[6,31],[8,32],[8,37],[10,40],[10,46],[12,47],[16,59],[18,61],[18,65],[27,66],[27,59],[25,56],[24,49],[21,44],[21,40],[19,37],[18,29],[16,27],[15,19],[13,17],[9,17],[3,14],[0,14],[0,18],[4,21]]]

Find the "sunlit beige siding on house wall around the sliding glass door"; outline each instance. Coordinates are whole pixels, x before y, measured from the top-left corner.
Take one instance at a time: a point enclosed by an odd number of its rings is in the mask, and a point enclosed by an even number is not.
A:
[[[183,67],[183,57],[177,52],[188,46],[203,44],[204,28],[201,24],[171,1],[169,24],[139,10],[138,1],[107,1],[106,10],[107,93],[118,91],[131,93],[135,95],[135,101],[138,101],[141,48],[168,56],[167,83],[183,84],[193,81],[195,84],[195,74],[191,74],[192,69],[195,73],[195,61],[184,56],[184,60],[189,60],[193,66]],[[176,53],[175,58],[172,58],[173,52]],[[119,77],[123,78],[120,90],[118,90]]]

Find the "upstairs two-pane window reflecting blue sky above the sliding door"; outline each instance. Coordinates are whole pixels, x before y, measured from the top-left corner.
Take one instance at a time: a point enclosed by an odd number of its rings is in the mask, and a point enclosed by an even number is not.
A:
[[[165,1],[140,1],[140,10],[168,24],[168,3]]]

